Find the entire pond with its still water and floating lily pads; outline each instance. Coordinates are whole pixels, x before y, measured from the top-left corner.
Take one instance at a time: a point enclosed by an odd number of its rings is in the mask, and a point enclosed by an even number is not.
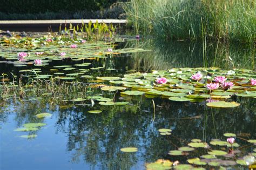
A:
[[[253,164],[253,47],[49,37],[2,39],[1,169]],[[196,73],[204,77],[191,79]],[[233,89],[206,89],[214,76],[223,75]],[[157,83],[159,77],[167,83]]]

